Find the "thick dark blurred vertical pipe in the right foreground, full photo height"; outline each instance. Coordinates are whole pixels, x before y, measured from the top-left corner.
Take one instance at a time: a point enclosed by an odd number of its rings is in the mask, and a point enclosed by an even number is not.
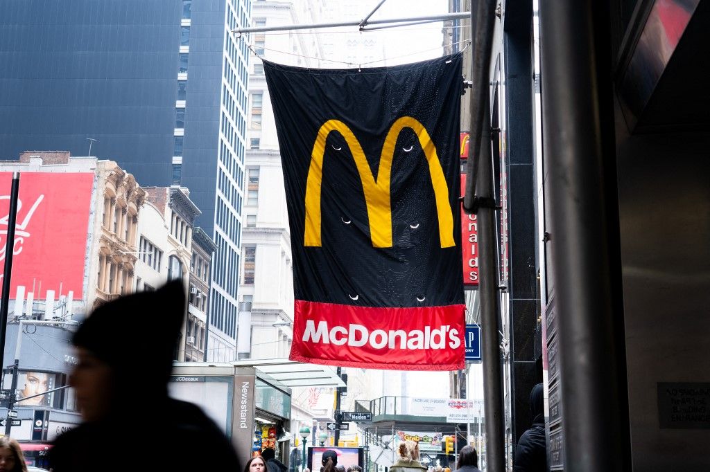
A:
[[[623,327],[615,327],[623,308],[613,284],[621,264],[610,249],[618,220],[607,210],[618,203],[616,187],[605,191],[604,179],[615,140],[603,3],[540,2],[545,219],[557,274],[564,462],[580,472],[628,470],[629,454]]]

